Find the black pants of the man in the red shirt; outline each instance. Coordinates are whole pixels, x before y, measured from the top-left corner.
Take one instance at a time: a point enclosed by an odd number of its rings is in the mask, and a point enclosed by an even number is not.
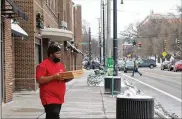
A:
[[[59,113],[61,110],[61,106],[61,104],[44,105],[46,119],[60,119]]]

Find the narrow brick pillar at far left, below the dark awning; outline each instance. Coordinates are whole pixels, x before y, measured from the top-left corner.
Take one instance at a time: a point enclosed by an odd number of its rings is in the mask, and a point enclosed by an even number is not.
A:
[[[10,102],[13,98],[13,52],[11,37],[11,21],[4,20],[4,102]]]

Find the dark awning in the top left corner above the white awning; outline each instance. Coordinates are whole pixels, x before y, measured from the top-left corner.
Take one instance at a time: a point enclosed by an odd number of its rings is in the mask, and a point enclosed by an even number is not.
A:
[[[6,9],[2,9],[2,15],[9,15],[12,17],[18,16],[28,21],[28,17],[25,13],[12,0],[6,1],[10,4],[11,8],[7,7]]]

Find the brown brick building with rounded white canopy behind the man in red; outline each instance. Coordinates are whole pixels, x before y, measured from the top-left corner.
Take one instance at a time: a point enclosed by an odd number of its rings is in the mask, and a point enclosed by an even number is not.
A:
[[[82,69],[82,18],[81,6],[72,0],[7,0],[13,1],[28,16],[25,22],[16,18],[28,37],[11,36],[11,27],[4,29],[4,83],[5,101],[12,100],[13,91],[36,90],[36,66],[47,57],[50,43],[61,46],[62,61],[67,70]],[[10,23],[9,20],[5,20]],[[7,24],[8,24],[7,23]],[[9,48],[9,49],[8,49]],[[8,71],[8,72],[6,72]],[[8,78],[6,78],[6,76]],[[9,81],[11,80],[11,81]],[[9,84],[8,84],[9,83]],[[11,86],[7,86],[11,85]],[[6,88],[10,87],[10,88]]]

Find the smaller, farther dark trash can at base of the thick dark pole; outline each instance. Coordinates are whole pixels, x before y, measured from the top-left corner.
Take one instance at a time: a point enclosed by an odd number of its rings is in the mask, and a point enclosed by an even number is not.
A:
[[[112,85],[114,86],[113,88]],[[113,94],[119,94],[121,92],[121,77],[106,76],[104,78],[104,87],[105,87],[105,93],[111,94],[113,90]]]

